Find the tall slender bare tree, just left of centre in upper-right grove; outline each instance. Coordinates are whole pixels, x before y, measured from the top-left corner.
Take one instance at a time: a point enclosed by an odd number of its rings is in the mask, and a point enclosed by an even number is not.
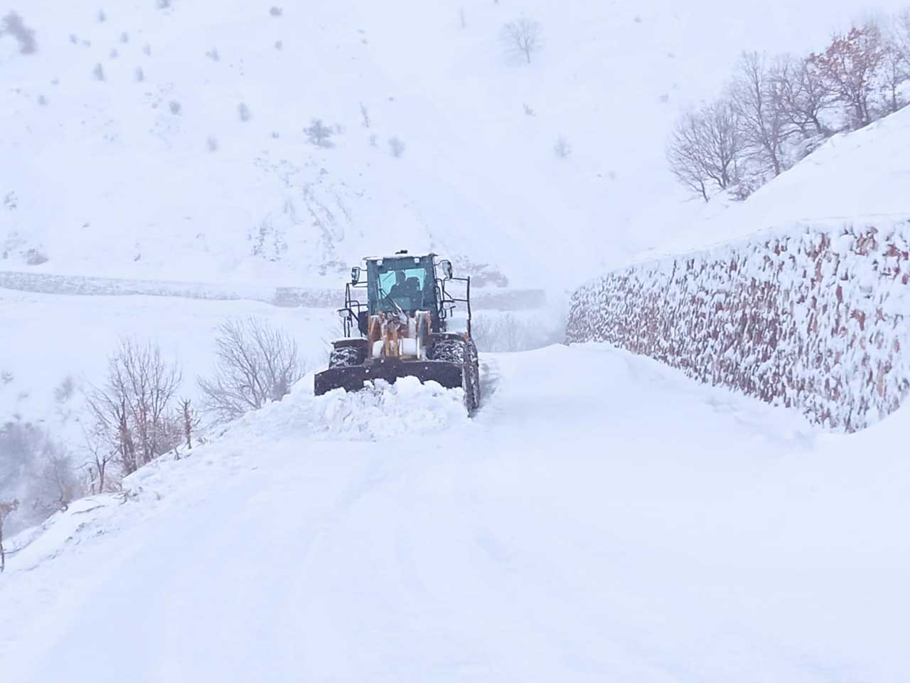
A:
[[[786,169],[784,142],[794,132],[784,114],[784,95],[763,55],[743,54],[733,81],[733,107],[743,148],[764,172],[779,176]]]

